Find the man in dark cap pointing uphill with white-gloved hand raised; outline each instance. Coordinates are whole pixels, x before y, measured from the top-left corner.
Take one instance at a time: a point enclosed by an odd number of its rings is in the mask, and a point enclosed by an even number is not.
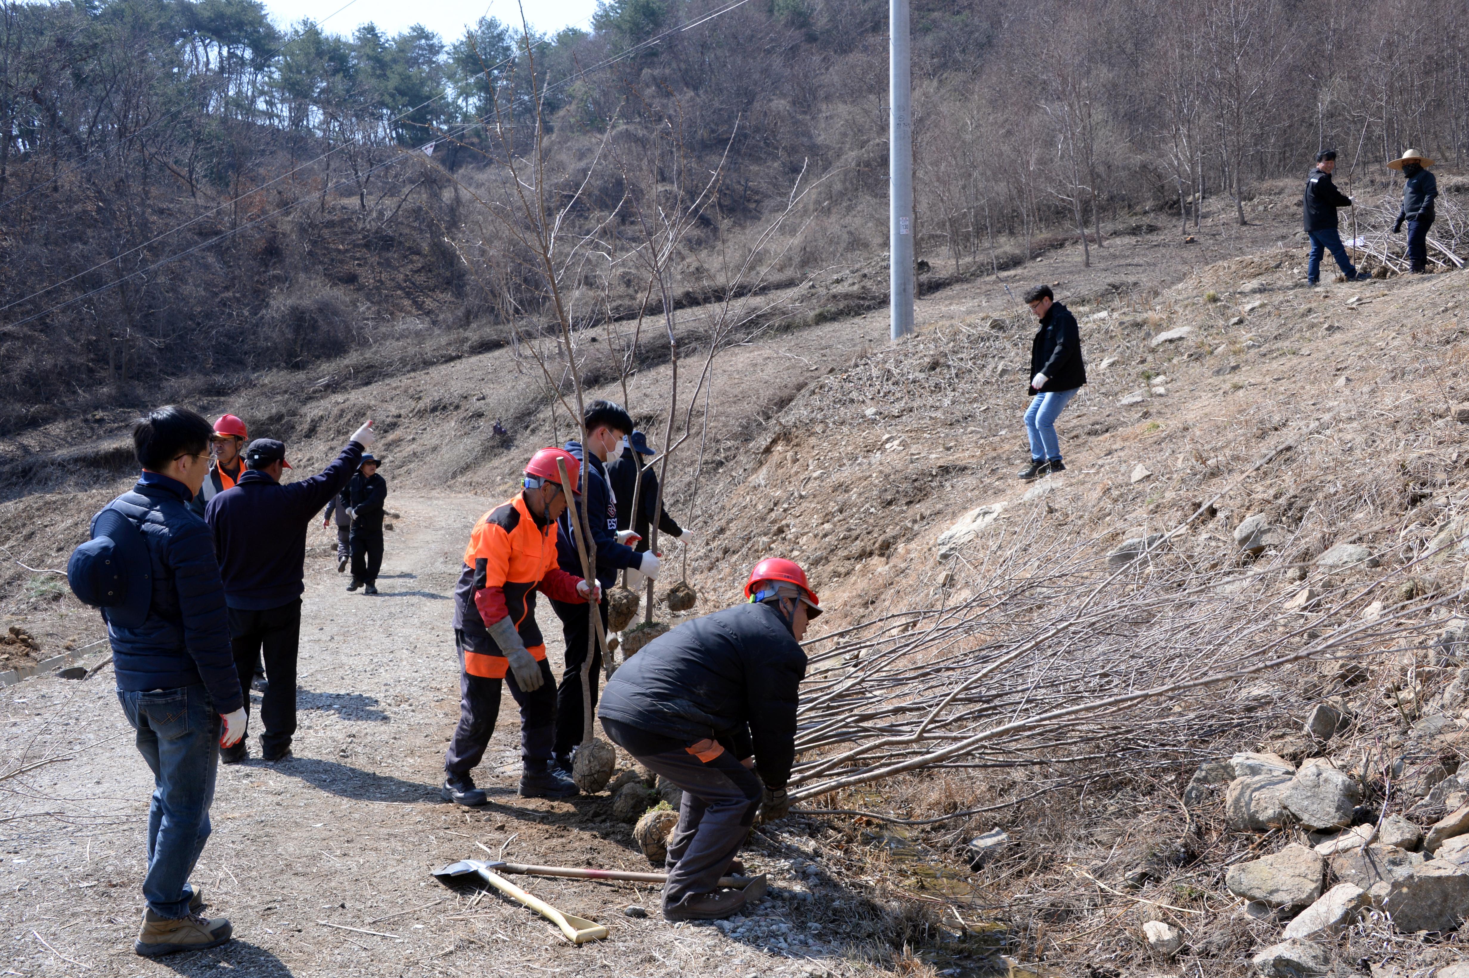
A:
[[[357,470],[372,445],[372,421],[322,473],[281,485],[285,445],[257,438],[245,451],[245,474],[234,489],[214,496],[204,520],[214,535],[225,604],[229,605],[229,645],[239,673],[244,709],[250,712],[250,675],[256,656],[266,662],[266,692],[260,700],[260,750],[266,761],[291,755],[295,736],[295,658],[301,640],[301,593],[306,592],[306,530],[326,501]],[[248,756],[245,742],[223,753],[225,764]]]

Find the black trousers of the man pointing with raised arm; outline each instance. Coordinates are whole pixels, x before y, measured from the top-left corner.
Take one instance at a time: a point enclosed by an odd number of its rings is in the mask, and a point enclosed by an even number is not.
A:
[[[301,643],[301,599],[264,611],[229,609],[229,648],[235,653],[239,692],[250,714],[250,678],[256,656],[266,662],[266,692],[260,695],[260,749],[282,753],[295,736],[295,655]],[[247,728],[248,733],[248,728]]]

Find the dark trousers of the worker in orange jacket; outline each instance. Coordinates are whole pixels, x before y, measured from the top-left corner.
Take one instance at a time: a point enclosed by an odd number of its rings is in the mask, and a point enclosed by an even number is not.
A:
[[[527,771],[545,771],[551,761],[555,724],[555,678],[551,675],[551,664],[541,662],[541,689],[523,693],[516,674],[508,670],[504,680],[466,673],[464,639],[457,630],[454,649],[460,656],[460,722],[454,728],[448,753],[444,755],[444,769],[450,774],[469,774],[479,765],[499,718],[499,687],[508,683],[510,695],[520,706],[520,759]]]

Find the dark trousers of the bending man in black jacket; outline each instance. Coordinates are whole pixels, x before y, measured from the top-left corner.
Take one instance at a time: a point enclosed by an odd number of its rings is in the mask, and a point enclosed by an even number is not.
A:
[[[617,724],[604,720],[602,730],[617,740]],[[618,746],[627,750],[621,743]],[[749,837],[749,827],[755,824],[755,812],[759,811],[764,794],[759,777],[729,750],[708,762],[686,750],[633,756],[683,790],[679,824],[668,836],[664,909],[685,897],[712,893],[734,853]]]

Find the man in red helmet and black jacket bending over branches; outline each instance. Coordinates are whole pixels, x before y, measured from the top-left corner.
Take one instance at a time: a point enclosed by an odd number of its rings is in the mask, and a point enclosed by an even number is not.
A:
[[[757,811],[782,818],[795,761],[806,623],[821,614],[792,561],[755,565],[736,605],[654,639],[607,683],[602,730],[643,767],[683,789],[668,837],[663,915],[737,913],[743,890],[718,890]]]

